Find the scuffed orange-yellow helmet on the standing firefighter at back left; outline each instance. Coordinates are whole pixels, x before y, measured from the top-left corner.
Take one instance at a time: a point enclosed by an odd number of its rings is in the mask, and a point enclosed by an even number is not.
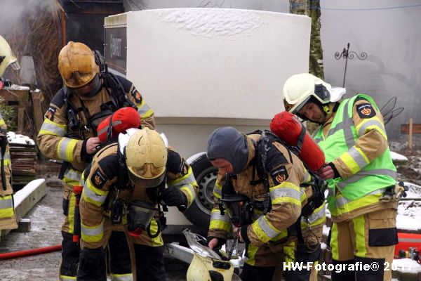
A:
[[[91,48],[73,41],[69,41],[58,54],[58,70],[69,88],[85,86],[100,73]]]

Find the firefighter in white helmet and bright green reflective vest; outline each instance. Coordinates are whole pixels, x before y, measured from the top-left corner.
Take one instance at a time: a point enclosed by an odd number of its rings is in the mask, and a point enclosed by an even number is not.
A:
[[[391,280],[384,264],[392,263],[398,243],[396,195],[401,187],[396,185],[385,125],[373,98],[358,93],[342,100],[344,93],[312,74],[295,74],[283,86],[283,102],[289,112],[321,125],[314,140],[326,155],[319,175],[328,179],[333,263],[378,266],[334,270],[332,280]],[[394,190],[394,196],[385,196]]]

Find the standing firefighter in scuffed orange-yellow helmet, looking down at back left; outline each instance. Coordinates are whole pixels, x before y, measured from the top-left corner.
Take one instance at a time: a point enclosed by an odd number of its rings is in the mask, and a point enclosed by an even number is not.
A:
[[[46,157],[63,162],[59,174],[65,187],[60,280],[76,278],[80,245],[72,241],[73,188],[80,184],[82,171],[100,148],[96,127],[125,106],[135,107],[142,126],[154,127],[154,112],[131,81],[106,69],[100,54],[85,44],[69,41],[58,55],[58,70],[65,86],[51,100],[37,137],[39,150]]]

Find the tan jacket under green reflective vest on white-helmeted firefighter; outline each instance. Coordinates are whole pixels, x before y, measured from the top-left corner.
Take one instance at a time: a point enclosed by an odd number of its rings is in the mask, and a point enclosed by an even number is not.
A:
[[[390,157],[383,117],[369,96],[358,94],[330,104],[330,115],[314,132],[326,161],[337,178],[328,180],[328,209],[332,221],[386,208],[396,202],[380,202],[385,188],[396,184],[396,168]]]

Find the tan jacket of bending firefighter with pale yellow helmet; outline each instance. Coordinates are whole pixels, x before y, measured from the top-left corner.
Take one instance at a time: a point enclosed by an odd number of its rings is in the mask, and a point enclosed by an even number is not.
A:
[[[83,192],[79,205],[83,247],[97,248],[102,245],[105,220],[109,218],[109,206],[116,197],[117,190],[119,190],[119,198],[123,200],[126,207],[133,200],[142,200],[152,204],[157,202],[159,190],[156,188],[136,187],[128,180],[125,185],[116,186],[118,178],[125,177],[127,174],[126,170],[121,174],[117,149],[117,143],[102,148],[93,157],[91,166],[88,166],[83,172]],[[166,184],[168,188],[178,188],[184,193],[188,201],[187,208],[192,204],[197,188],[192,167],[172,148],[168,148]],[[124,216],[123,225],[126,223],[126,216]],[[156,229],[152,229],[152,233],[155,233]],[[148,246],[162,244],[161,235],[154,240],[150,240],[145,232],[142,233],[142,236],[138,240],[139,244]]]

